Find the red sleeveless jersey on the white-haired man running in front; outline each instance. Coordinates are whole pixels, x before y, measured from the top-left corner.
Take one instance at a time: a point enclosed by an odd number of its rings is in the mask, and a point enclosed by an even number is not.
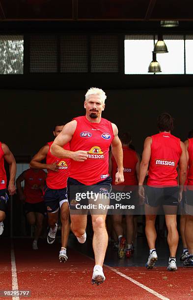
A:
[[[103,118],[100,123],[89,122],[85,116],[73,120],[77,121],[77,127],[70,141],[70,150],[89,152],[83,162],[71,160],[69,177],[93,185],[109,176],[109,147],[114,139],[112,125]]]

